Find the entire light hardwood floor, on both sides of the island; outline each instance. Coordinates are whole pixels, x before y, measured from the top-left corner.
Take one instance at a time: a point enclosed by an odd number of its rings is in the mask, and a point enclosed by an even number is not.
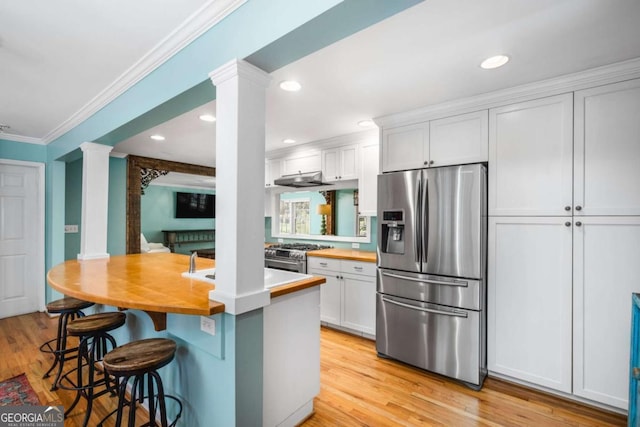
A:
[[[51,380],[42,379],[51,359],[38,347],[55,331],[56,319],[43,313],[0,320],[0,380],[24,372],[43,405],[68,406],[73,393],[51,392]],[[331,329],[322,328],[321,342],[320,395],[305,427],[626,425],[624,416],[494,379],[475,392],[378,358],[372,341]],[[115,404],[114,398],[100,397],[90,425],[96,425]],[[81,425],[84,408],[81,401],[65,426]]]

